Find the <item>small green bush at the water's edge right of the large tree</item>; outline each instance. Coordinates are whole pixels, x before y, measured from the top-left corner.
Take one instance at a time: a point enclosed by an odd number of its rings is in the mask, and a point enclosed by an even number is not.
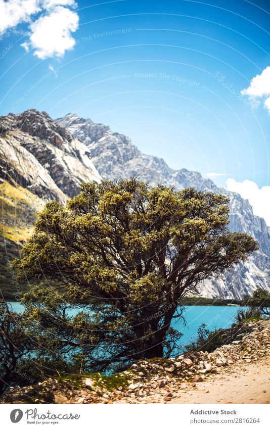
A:
[[[187,352],[208,352],[211,353],[223,345],[222,337],[219,331],[210,332],[207,325],[202,323],[198,328],[197,338],[194,342],[188,344],[185,349]]]

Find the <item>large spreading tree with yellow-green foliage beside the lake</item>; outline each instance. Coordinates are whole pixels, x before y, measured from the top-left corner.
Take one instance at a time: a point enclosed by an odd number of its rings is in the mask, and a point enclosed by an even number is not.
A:
[[[229,231],[228,202],[132,178],[84,183],[66,207],[47,204],[16,261],[21,279],[48,283],[24,298],[40,347],[73,350],[96,369],[169,355],[183,297],[257,249]],[[71,317],[70,306],[82,311]]]

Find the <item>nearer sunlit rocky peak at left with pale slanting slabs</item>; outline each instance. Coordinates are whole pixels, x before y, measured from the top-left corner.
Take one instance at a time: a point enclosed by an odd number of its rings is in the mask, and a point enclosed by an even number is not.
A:
[[[0,136],[0,177],[46,201],[63,203],[81,182],[101,180],[87,147],[46,112],[2,116]]]

